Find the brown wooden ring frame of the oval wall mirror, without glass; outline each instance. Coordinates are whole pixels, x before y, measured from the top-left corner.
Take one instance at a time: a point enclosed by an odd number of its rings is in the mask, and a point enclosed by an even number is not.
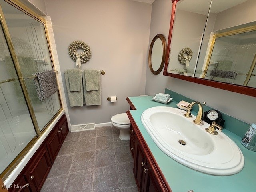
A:
[[[161,42],[162,42],[162,45],[163,45],[163,54],[162,54],[162,61],[161,61],[161,64],[160,64],[158,70],[155,71],[155,70],[152,68],[151,55],[152,55],[152,49],[153,49],[154,43],[155,43],[155,41],[156,41],[157,39],[160,39]],[[158,75],[158,74],[162,71],[162,69],[164,68],[165,55],[166,55],[166,40],[165,40],[163,34],[157,34],[157,35],[153,38],[153,40],[152,40],[152,42],[151,42],[151,44],[150,44],[149,51],[148,51],[148,66],[149,66],[149,68],[150,68],[150,71],[151,71],[153,74]]]

